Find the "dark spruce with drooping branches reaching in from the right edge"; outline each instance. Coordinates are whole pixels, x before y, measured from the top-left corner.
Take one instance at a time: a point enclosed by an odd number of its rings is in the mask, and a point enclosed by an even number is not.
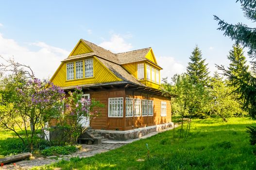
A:
[[[241,3],[244,16],[256,21],[256,2],[253,0],[237,0]],[[252,69],[250,72],[245,68],[239,70],[239,74],[236,74],[230,69],[224,68],[224,66],[218,66],[223,74],[228,77],[231,84],[235,86],[234,92],[240,95],[240,100],[243,102],[243,108],[249,112],[249,115],[256,119],[256,28],[250,28],[245,24],[229,24],[224,22],[217,16],[214,19],[219,21],[218,30],[224,31],[225,36],[229,36],[232,40],[235,40],[236,44],[241,44],[243,47],[249,49],[248,55],[252,58]]]

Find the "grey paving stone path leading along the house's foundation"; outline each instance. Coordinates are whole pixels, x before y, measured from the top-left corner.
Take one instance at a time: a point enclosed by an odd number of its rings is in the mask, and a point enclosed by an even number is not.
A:
[[[150,136],[154,136],[158,133],[165,132],[168,130],[173,129],[173,126],[170,128],[162,129],[159,132],[154,132],[151,134],[148,134],[146,136],[141,136],[136,139],[130,139],[130,140],[125,140],[125,141],[117,141],[117,140],[104,140],[102,141],[101,145],[85,145],[82,144],[82,150],[76,153],[72,153],[69,155],[63,155],[63,156],[47,156],[47,157],[38,157],[34,158],[32,160],[23,160],[16,162],[16,166],[14,164],[7,164],[4,165],[3,167],[0,167],[0,170],[28,170],[31,169],[32,167],[35,166],[42,166],[42,165],[47,165],[51,164],[57,161],[60,161],[62,159],[64,160],[69,160],[71,157],[90,157],[94,156],[97,153],[104,153],[113,149],[117,149],[125,144],[132,143],[136,140],[140,140],[143,138],[148,138]]]

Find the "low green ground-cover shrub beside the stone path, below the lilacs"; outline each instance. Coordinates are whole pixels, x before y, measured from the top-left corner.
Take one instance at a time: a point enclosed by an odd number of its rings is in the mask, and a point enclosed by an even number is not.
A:
[[[67,155],[70,153],[75,153],[77,151],[76,146],[53,146],[48,149],[44,149],[41,153],[44,156],[52,155]]]

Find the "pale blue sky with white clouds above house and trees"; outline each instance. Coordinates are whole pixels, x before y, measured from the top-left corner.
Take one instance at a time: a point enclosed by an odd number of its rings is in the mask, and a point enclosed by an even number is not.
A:
[[[0,55],[48,78],[80,38],[113,52],[152,47],[162,77],[186,70],[197,44],[214,71],[233,42],[213,15],[251,23],[236,0],[6,0],[0,2]]]

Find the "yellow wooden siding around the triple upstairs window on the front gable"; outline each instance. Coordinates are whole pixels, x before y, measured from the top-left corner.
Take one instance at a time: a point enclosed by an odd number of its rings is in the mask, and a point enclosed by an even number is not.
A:
[[[81,59],[76,60],[81,61]],[[72,61],[72,62],[76,62]],[[70,63],[70,62],[68,62]],[[61,68],[58,72],[54,75],[51,79],[51,82],[54,85],[59,85],[61,87],[65,86],[73,86],[73,85],[86,85],[86,84],[93,84],[93,83],[105,83],[105,82],[115,82],[120,81],[110,70],[105,68],[100,61],[96,58],[93,58],[93,77],[91,78],[82,78],[82,79],[75,79],[75,80],[66,80],[67,79],[67,63],[62,63]],[[75,66],[75,65],[74,65]],[[83,70],[85,71],[85,69]],[[74,77],[75,77],[75,67],[74,67]]]

